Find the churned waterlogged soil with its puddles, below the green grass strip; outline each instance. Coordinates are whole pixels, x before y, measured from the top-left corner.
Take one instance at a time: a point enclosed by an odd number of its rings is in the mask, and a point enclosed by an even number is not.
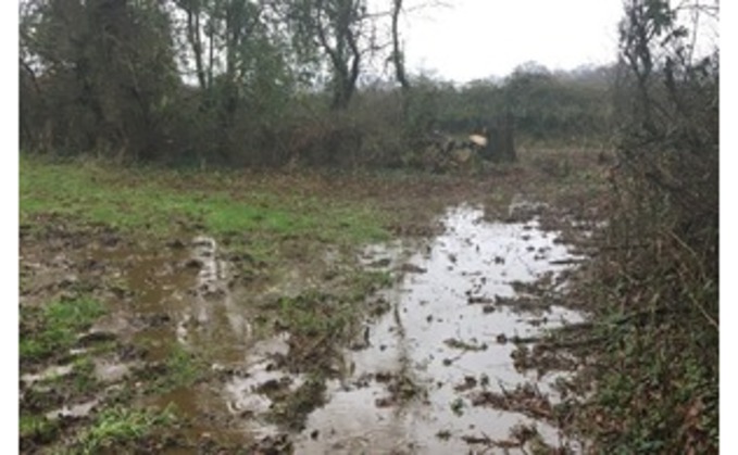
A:
[[[586,320],[566,291],[602,212],[537,175],[305,180],[400,213],[395,240],[316,252],[285,239],[295,253],[277,266],[196,226],[165,239],[54,215],[21,226],[22,339],[47,302],[107,308],[68,350],[21,357],[21,414],[52,428],[22,433],[22,452],[73,447],[120,403],[178,416],[133,451],[583,451],[555,406],[580,359],[546,346]],[[389,279],[350,296],[359,271]]]

